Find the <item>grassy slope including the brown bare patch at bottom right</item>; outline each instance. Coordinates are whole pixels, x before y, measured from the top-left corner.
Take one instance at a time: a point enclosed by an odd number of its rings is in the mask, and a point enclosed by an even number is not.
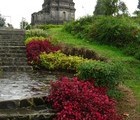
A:
[[[49,36],[58,42],[63,42],[75,47],[85,47],[95,51],[99,56],[111,61],[120,62],[123,65],[125,74],[123,83],[119,89],[124,94],[118,100],[119,111],[129,120],[140,119],[140,61],[124,53],[113,46],[100,45],[96,42],[89,42],[87,39],[77,38],[62,30],[62,27],[50,28]]]

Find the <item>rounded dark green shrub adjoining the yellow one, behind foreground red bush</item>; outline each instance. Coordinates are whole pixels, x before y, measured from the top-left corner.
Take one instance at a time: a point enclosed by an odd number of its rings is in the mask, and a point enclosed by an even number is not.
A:
[[[94,82],[97,86],[114,88],[122,80],[122,69],[116,63],[84,62],[79,65],[77,72],[81,79],[95,79]]]

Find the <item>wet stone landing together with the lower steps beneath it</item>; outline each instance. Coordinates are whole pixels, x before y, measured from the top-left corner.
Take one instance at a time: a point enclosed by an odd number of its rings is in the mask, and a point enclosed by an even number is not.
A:
[[[49,93],[50,81],[65,75],[47,71],[2,73],[0,120],[51,120],[55,112],[48,108],[43,98]]]

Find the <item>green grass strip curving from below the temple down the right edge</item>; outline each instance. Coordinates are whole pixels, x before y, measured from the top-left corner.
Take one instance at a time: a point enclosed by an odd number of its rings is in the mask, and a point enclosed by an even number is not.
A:
[[[86,40],[78,39],[71,34],[62,31],[62,28],[52,28],[49,30],[49,34],[59,42],[64,42],[76,47],[86,47],[96,51],[101,56],[122,62],[124,68],[127,70],[124,84],[133,90],[137,100],[140,101],[140,61],[124,55],[117,48],[99,45],[97,43],[89,43]],[[140,111],[140,106],[138,105],[137,107],[138,111]]]

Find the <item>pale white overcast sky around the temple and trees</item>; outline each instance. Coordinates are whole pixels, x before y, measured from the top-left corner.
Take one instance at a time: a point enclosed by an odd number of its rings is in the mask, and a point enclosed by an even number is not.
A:
[[[31,14],[42,9],[44,0],[0,0],[0,13],[15,28],[19,28],[22,17],[27,22],[31,22]],[[122,0],[126,3],[129,12],[132,13],[137,8],[138,0]],[[96,0],[74,0],[76,13],[79,18],[85,15],[92,15]]]

